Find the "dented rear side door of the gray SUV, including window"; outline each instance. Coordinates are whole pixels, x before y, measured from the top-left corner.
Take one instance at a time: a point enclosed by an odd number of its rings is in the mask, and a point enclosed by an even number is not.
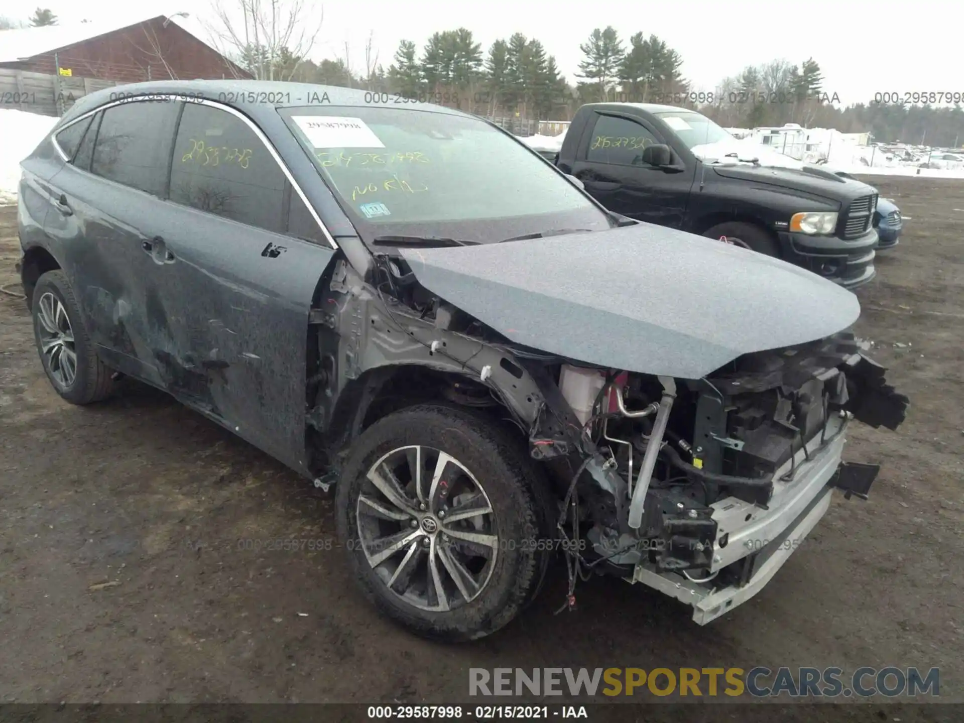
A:
[[[148,272],[151,239],[164,228],[162,200],[180,106],[173,100],[113,103],[76,121],[77,130],[67,126],[55,140],[63,142],[69,163],[53,178],[54,207],[44,223],[101,359],[162,388]]]

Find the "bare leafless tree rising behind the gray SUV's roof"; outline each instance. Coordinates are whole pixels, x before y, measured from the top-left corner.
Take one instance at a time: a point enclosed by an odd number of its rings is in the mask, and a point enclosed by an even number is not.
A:
[[[290,80],[324,14],[305,0],[213,0],[212,7],[217,20],[204,25],[217,49],[258,80]]]

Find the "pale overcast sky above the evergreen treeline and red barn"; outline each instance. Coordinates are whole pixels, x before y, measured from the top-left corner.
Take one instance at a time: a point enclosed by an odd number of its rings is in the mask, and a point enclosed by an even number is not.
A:
[[[208,0],[4,0],[0,14],[25,19],[39,2],[62,24],[128,17],[132,8],[144,17],[176,12],[212,16]],[[683,56],[683,75],[693,90],[712,90],[720,79],[748,65],[777,58],[800,64],[813,56],[823,70],[823,90],[839,94],[844,104],[869,101],[882,92],[964,92],[964,3],[951,0],[899,5],[871,0],[607,0],[576,5],[560,0],[340,0],[315,8],[323,9],[324,21],[312,58],[343,57],[347,41],[356,72],[364,67],[370,32],[379,63],[388,67],[399,40],[414,40],[420,49],[432,33],[465,26],[484,51],[493,40],[515,32],[541,40],[575,82],[579,44],[593,28],[612,25],[626,44],[640,31],[666,40]]]

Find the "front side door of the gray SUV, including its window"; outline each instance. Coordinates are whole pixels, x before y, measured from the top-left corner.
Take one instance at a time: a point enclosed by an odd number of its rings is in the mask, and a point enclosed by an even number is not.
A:
[[[179,398],[304,469],[308,314],[334,249],[239,112],[187,103],[173,159],[156,363]]]

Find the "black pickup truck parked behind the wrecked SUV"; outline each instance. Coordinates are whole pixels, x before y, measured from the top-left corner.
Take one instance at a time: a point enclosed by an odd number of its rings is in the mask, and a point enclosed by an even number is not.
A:
[[[725,237],[848,288],[876,274],[876,189],[754,152],[694,111],[592,103],[576,112],[558,152],[530,146],[637,221]]]

